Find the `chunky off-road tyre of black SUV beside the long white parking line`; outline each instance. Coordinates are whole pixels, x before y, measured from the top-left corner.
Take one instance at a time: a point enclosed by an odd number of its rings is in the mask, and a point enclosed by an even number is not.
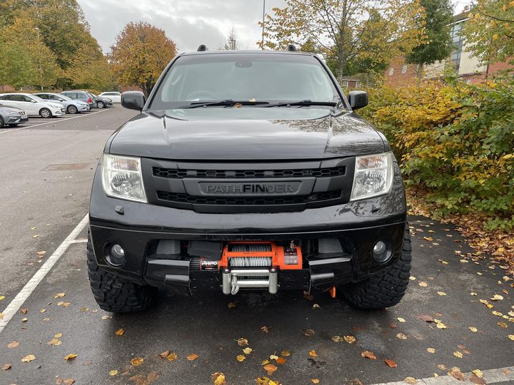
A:
[[[94,294],[96,303],[99,304],[102,310],[114,313],[131,313],[141,312],[141,310],[150,307],[155,297],[156,289],[136,284],[128,279],[101,270],[96,263],[89,235],[87,259],[91,291]]]

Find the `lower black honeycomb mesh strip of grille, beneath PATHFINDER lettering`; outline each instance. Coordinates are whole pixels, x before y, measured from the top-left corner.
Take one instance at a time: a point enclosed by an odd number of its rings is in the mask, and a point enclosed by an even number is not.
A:
[[[157,191],[157,197],[158,199],[168,202],[193,203],[198,205],[293,205],[338,199],[341,197],[341,193],[341,190],[334,190],[326,193],[300,195],[297,197],[198,197],[182,193]]]

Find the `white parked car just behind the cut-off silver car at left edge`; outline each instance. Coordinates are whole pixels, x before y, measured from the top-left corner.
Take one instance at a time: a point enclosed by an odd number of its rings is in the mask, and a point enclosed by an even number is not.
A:
[[[21,108],[27,115],[41,116],[41,118],[51,118],[66,113],[63,104],[45,101],[30,93],[3,93],[0,95],[0,103],[8,107]]]

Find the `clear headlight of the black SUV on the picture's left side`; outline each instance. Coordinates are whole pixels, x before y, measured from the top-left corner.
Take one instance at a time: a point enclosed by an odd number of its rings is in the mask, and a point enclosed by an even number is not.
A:
[[[104,154],[102,184],[111,197],[146,203],[140,158]]]

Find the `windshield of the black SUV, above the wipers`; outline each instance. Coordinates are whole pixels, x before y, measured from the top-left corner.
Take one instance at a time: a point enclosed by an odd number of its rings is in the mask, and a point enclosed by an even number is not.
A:
[[[338,102],[340,97],[327,71],[313,56],[211,53],[178,58],[148,109],[166,110],[227,99],[250,103],[331,103]],[[244,105],[248,106],[253,107]]]

